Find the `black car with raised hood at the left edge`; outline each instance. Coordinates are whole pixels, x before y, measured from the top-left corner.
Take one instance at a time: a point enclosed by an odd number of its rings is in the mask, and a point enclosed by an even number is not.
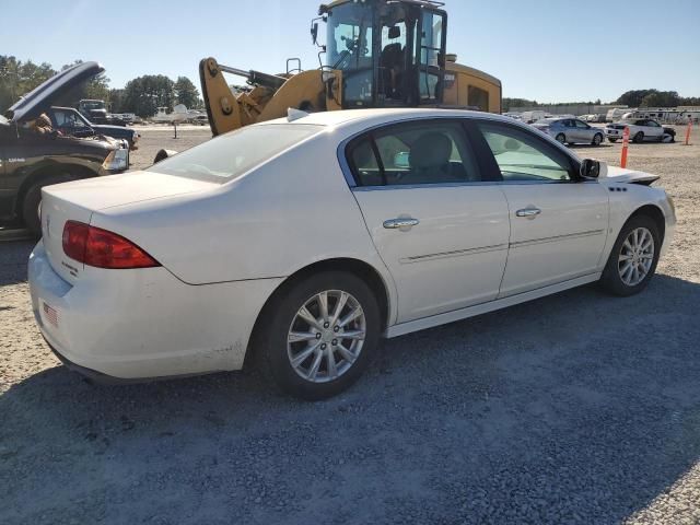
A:
[[[126,140],[65,136],[48,117],[54,104],[104,71],[97,62],[68,68],[22,96],[0,117],[0,221],[40,234],[42,188],[129,167]]]

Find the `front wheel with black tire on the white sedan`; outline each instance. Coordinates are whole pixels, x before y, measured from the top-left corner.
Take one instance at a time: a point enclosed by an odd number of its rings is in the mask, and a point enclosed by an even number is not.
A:
[[[649,249],[639,252],[642,257],[633,256],[632,259],[622,259],[622,257],[631,256],[632,250],[630,250],[630,247],[633,247],[634,242],[630,237],[635,232],[638,232],[639,244],[642,248],[646,241],[642,242],[641,240],[651,236],[653,240],[651,252]],[[646,232],[644,234],[645,237],[642,237],[641,232]],[[612,252],[610,252],[610,257],[603,271],[603,277],[600,278],[603,288],[609,293],[622,298],[634,295],[644,290],[656,271],[662,242],[663,238],[658,232],[658,226],[656,226],[651,217],[637,215],[627,221],[615,242],[615,246],[612,246]],[[634,276],[634,270],[626,271],[627,262],[632,267],[637,267],[638,276]],[[644,270],[643,276],[642,269]],[[639,280],[634,277],[639,278]]]

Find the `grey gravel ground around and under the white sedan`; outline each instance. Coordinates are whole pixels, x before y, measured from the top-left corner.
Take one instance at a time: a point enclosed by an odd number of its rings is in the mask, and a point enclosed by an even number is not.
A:
[[[179,133],[144,131],[135,167],[208,137]],[[0,244],[0,523],[700,523],[700,145],[632,145],[630,166],[679,217],[646,292],[387,341],[318,404],[247,373],[86,383],[34,325],[32,244]]]

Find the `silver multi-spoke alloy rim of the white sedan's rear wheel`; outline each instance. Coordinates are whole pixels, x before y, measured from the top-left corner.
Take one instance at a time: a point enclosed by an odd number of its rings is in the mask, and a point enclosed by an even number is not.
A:
[[[328,383],[348,372],[364,345],[362,306],[347,292],[317,293],[299,308],[287,336],[294,372],[312,383]]]

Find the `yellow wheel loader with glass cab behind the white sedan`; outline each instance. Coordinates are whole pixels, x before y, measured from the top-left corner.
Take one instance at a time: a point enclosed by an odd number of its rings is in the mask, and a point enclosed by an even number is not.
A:
[[[501,113],[501,82],[456,63],[445,52],[447,13],[427,0],[336,0],[320,5],[312,38],[325,55],[319,69],[267,74],[199,65],[214,136],[287,116],[289,108],[329,112],[366,107],[445,107]],[[326,40],[318,44],[319,24]],[[234,94],[224,73],[244,77]]]

